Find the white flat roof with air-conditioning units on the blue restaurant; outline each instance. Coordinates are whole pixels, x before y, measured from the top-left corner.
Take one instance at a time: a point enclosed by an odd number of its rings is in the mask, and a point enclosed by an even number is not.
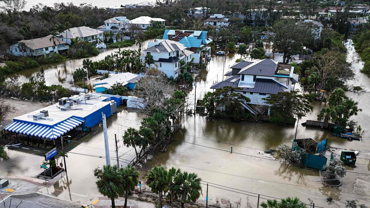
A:
[[[100,108],[104,107],[105,105],[110,105],[110,102],[105,102],[103,100],[107,99],[107,97],[93,97],[91,100],[83,100],[78,105],[74,103],[74,105],[71,107],[71,109],[78,109],[82,108],[81,110],[66,110],[62,111],[60,108],[58,108],[58,103],[49,105],[44,108],[40,108],[39,110],[32,111],[30,113],[26,113],[23,115],[20,115],[18,117],[13,118],[13,120],[26,122],[26,123],[35,123],[35,124],[41,124],[41,125],[50,125],[53,126],[55,124],[58,124],[72,116],[77,116],[84,118],[87,115],[90,115],[91,113],[94,113],[95,111],[99,110]],[[85,103],[86,101],[86,103]],[[40,113],[41,110],[47,110],[49,116],[47,118],[51,118],[53,120],[46,120],[46,119],[40,119],[40,120],[33,120],[32,115],[36,115]],[[28,116],[30,115],[30,116]]]

